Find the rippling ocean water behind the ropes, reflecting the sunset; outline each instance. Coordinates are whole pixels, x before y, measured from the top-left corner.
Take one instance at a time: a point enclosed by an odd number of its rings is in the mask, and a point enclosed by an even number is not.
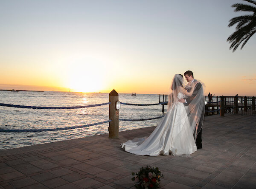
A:
[[[108,93],[74,92],[26,92],[0,91],[0,103],[66,107],[108,102]],[[159,95],[154,94],[119,94],[119,101],[134,104],[154,104],[159,102]],[[109,105],[79,109],[26,109],[0,106],[0,129],[45,129],[87,125],[109,119]],[[165,106],[165,113],[167,106]],[[141,119],[162,116],[162,105],[130,106],[121,104],[119,118]],[[151,127],[160,123],[160,119],[148,121],[119,121],[119,131]],[[44,144],[73,138],[108,133],[109,123],[63,131],[32,133],[0,133],[0,150]]]

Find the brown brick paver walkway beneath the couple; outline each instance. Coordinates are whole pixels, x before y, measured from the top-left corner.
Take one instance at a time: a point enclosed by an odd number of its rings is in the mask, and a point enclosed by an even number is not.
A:
[[[256,188],[256,116],[205,118],[203,149],[190,157],[139,156],[121,142],[149,135],[154,127],[0,150],[0,189],[126,189],[131,172],[147,164],[165,175],[163,189]]]

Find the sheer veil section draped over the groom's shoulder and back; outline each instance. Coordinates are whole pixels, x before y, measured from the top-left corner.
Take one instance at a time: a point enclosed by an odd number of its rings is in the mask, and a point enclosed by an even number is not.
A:
[[[196,79],[197,80],[197,79]],[[199,83],[195,86],[194,93],[189,98],[189,105],[188,105],[188,118],[191,124],[192,132],[194,133],[194,138],[198,133],[201,131],[203,122],[204,122],[204,111],[205,111],[205,104],[204,104],[204,89],[205,85],[203,82],[197,80]]]

